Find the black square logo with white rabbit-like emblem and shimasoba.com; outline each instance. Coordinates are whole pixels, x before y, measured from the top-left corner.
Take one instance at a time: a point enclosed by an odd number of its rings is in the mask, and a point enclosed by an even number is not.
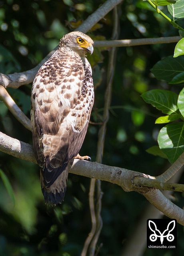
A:
[[[175,219],[147,220],[147,248],[176,248]]]

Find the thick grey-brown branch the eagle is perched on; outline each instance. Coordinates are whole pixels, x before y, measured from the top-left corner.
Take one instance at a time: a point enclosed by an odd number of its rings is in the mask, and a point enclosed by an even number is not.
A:
[[[11,138],[2,132],[0,132],[0,150],[12,156],[36,163],[31,145]],[[86,176],[88,178],[112,182],[121,186],[127,192],[139,192],[140,194],[143,194],[158,210],[162,211],[170,218],[176,218],[178,223],[184,225],[184,210],[165,198],[160,190],[135,186],[133,180],[136,176],[149,178],[149,175],[124,168],[112,167],[78,159],[72,159],[69,162],[69,172]]]

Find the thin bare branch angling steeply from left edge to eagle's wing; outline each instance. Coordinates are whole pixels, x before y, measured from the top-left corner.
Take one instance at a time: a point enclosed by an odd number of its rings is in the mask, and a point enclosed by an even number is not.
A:
[[[28,130],[31,129],[31,121],[27,118],[26,115],[20,110],[20,108],[16,105],[10,94],[8,94],[7,90],[0,85],[0,99],[4,102],[10,112],[15,116],[15,118]]]

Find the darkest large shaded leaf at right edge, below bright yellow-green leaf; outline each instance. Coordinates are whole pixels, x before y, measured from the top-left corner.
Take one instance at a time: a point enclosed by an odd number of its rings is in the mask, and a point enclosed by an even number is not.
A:
[[[178,58],[168,56],[157,62],[151,72],[158,80],[170,82],[174,76],[184,72],[184,56],[178,56]]]

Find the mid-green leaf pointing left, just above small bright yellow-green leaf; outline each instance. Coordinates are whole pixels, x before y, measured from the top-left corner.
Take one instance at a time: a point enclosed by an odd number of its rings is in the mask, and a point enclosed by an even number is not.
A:
[[[170,115],[172,113],[176,113],[178,110],[178,95],[174,92],[154,89],[144,92],[141,97],[145,102],[152,104],[152,106],[161,110],[164,114]]]

